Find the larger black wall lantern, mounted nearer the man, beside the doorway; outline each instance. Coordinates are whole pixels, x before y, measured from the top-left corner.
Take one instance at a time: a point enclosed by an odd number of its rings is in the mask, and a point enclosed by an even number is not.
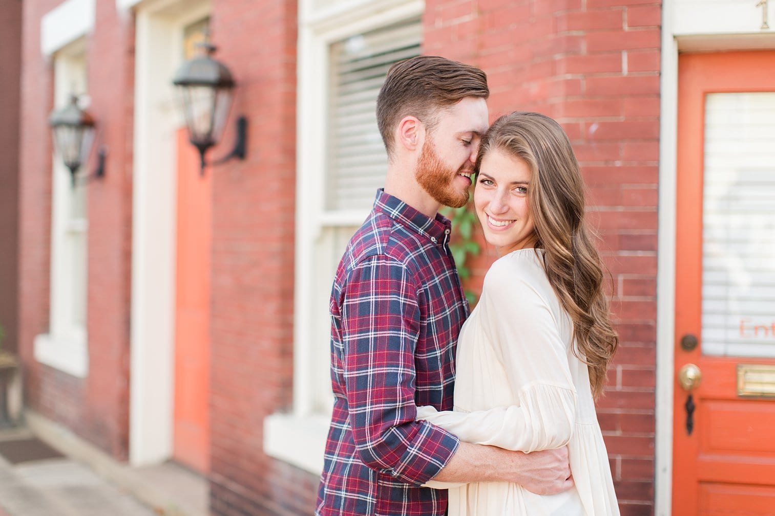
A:
[[[232,73],[223,63],[212,58],[215,46],[202,43],[204,52],[186,61],[177,70],[173,84],[177,86],[188,127],[188,139],[199,151],[202,163],[200,173],[205,173],[205,152],[218,143],[229,117],[232,91],[235,82]],[[211,165],[219,165],[233,157],[245,159],[247,119],[237,120],[237,141],[232,152]]]

